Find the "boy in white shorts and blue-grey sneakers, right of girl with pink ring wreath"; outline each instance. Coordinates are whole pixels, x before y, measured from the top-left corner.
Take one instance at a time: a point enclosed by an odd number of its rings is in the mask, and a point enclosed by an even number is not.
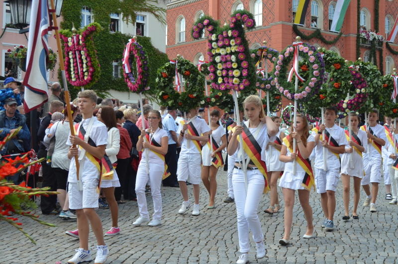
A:
[[[320,125],[317,132],[312,132],[315,138],[316,192],[320,193],[322,210],[325,215],[321,226],[327,231],[334,230],[335,192],[340,176],[339,154],[345,152],[345,145],[348,144],[344,130],[334,124],[336,117],[337,109],[327,107],[325,109],[325,124]],[[325,138],[321,137],[323,131],[325,131]],[[325,157],[323,156],[323,147],[326,148]],[[323,159],[326,159],[326,170],[323,169]]]

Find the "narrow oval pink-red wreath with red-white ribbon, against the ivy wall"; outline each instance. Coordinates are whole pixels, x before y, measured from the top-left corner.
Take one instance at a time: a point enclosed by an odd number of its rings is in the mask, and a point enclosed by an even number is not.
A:
[[[123,76],[127,87],[135,93],[149,90],[148,56],[136,41],[136,37],[129,40],[123,54]],[[133,72],[136,72],[137,76],[134,76]]]

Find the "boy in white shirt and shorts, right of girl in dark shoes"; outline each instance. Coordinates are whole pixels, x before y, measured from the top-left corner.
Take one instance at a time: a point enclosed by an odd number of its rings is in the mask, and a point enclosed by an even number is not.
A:
[[[386,133],[384,127],[377,124],[379,111],[372,109],[368,116],[368,126],[364,125],[361,130],[366,131],[368,135],[369,151],[363,155],[365,176],[362,178],[361,185],[366,193],[364,206],[369,206],[370,211],[377,212],[376,199],[379,192],[379,183],[381,181],[380,165],[382,164],[382,146],[386,144]],[[372,183],[372,192],[369,187]]]

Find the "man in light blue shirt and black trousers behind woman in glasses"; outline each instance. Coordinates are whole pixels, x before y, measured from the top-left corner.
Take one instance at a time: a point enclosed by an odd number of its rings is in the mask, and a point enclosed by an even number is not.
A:
[[[167,108],[167,115],[162,121],[163,129],[167,132],[169,137],[169,148],[167,150],[165,159],[169,167],[170,176],[163,180],[163,186],[180,187],[177,181],[177,124],[176,124],[177,111],[173,107]]]

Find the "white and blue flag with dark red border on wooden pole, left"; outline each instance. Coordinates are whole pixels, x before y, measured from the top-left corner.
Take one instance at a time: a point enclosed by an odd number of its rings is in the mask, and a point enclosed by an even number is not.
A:
[[[30,112],[48,100],[47,59],[50,27],[48,0],[33,0],[26,54],[25,112]]]

